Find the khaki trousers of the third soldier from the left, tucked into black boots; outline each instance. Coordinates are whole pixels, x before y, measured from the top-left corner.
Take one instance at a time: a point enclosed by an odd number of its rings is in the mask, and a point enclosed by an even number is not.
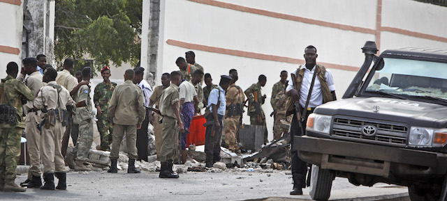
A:
[[[42,127],[41,136],[41,159],[43,163],[43,173],[65,172],[65,161],[62,156],[61,145],[65,127],[56,120],[53,127],[46,129]]]

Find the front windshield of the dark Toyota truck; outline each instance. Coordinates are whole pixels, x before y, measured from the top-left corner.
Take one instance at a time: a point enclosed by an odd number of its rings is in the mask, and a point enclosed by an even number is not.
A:
[[[447,63],[383,58],[366,92],[447,100]]]

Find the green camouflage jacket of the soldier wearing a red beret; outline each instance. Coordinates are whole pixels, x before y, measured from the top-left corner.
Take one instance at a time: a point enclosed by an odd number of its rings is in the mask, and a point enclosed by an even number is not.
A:
[[[107,115],[108,104],[116,86],[117,83],[110,81],[108,84],[105,82],[98,83],[95,87],[93,102],[95,107],[99,106],[101,108],[104,115]]]

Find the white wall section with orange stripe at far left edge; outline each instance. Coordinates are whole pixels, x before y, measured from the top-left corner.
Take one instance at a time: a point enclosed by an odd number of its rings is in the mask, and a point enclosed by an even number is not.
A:
[[[10,61],[14,61],[22,66],[22,24],[23,24],[23,8],[22,5],[17,6],[10,3],[0,2],[0,45],[18,48],[19,54],[10,54],[0,51],[0,78],[6,77],[6,65]]]

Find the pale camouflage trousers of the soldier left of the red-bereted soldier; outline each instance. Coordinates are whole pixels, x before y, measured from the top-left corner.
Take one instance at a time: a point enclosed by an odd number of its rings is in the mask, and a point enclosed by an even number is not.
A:
[[[83,120],[79,123],[78,142],[71,152],[76,156],[76,160],[85,161],[89,157],[91,143],[93,143],[93,122]]]

